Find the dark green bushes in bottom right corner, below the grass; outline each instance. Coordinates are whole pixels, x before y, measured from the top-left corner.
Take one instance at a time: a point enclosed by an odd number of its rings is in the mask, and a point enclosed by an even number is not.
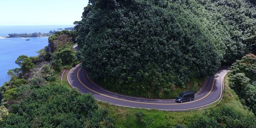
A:
[[[210,109],[203,115],[196,114],[191,119],[189,128],[253,128],[256,126],[254,115],[244,115],[227,106]]]

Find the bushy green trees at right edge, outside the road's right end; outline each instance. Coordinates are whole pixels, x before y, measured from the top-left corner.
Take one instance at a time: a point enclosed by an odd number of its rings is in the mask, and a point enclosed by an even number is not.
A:
[[[245,55],[232,64],[229,83],[254,114],[256,114],[256,56]]]

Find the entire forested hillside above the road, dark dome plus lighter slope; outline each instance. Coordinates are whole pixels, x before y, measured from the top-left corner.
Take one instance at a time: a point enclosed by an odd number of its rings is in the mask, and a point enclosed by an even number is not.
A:
[[[169,98],[256,52],[255,2],[90,0],[77,21],[79,60],[101,86]]]

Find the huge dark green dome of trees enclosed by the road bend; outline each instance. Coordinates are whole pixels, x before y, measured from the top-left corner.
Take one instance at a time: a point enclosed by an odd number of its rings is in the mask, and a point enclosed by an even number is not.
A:
[[[192,78],[212,75],[220,66],[206,26],[177,3],[89,3],[76,22],[78,56],[90,77],[107,89],[165,97],[170,91],[164,88],[186,87]]]

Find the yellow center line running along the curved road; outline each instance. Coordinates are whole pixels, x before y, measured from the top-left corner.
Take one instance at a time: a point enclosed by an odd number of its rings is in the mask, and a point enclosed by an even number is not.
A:
[[[78,72],[77,72],[77,74],[76,74],[76,75],[77,75],[77,78],[78,78],[79,82],[80,82],[84,87],[86,87],[87,89],[89,89],[90,91],[93,91],[94,93],[97,93],[97,94],[100,94],[100,95],[102,95],[102,96],[106,96],[106,97],[109,97],[109,98],[112,98],[112,99],[118,99],[118,100],[122,100],[122,101],[126,101],[126,102],[134,102],[134,103],[140,103],[140,104],[150,104],[150,105],[180,105],[180,104],[188,104],[188,103],[200,101],[200,100],[204,99],[205,97],[207,97],[207,96],[212,92],[213,85],[214,85],[214,81],[215,81],[215,80],[213,80],[213,82],[212,82],[212,88],[211,88],[211,90],[209,91],[209,93],[207,93],[207,95],[205,95],[204,97],[202,97],[202,98],[200,98],[200,99],[197,99],[197,100],[194,100],[194,101],[191,101],[191,102],[184,102],[184,103],[160,104],[160,103],[136,102],[136,101],[126,100],[126,99],[119,99],[119,98],[116,98],[116,97],[112,97],[112,96],[108,96],[108,95],[105,95],[105,94],[96,92],[95,90],[90,89],[89,87],[87,87],[86,85],[84,85],[84,84],[81,82],[81,80],[80,80],[80,78],[79,78],[79,75],[78,75],[79,72],[80,72],[80,70],[81,70],[81,67],[79,68],[79,70],[78,70]],[[89,78],[88,78],[88,79],[89,79]]]

